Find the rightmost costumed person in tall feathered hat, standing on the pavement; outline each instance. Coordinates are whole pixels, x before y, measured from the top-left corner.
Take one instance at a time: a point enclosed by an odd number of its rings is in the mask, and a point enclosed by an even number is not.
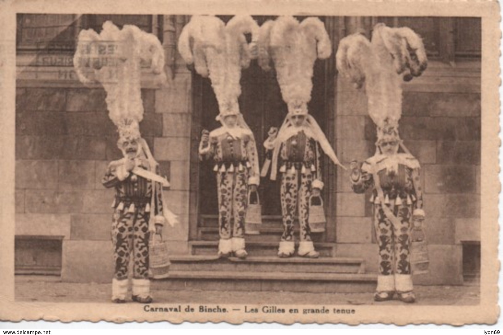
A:
[[[351,163],[356,193],[372,188],[374,225],[379,245],[376,301],[394,293],[414,302],[410,241],[413,225],[424,220],[420,164],[398,135],[402,112],[402,81],[419,76],[427,57],[420,37],[409,28],[374,27],[372,41],[361,34],[339,44],[337,68],[355,87],[364,87],[368,110],[377,126],[376,154],[363,164]],[[401,150],[400,150],[401,148]]]

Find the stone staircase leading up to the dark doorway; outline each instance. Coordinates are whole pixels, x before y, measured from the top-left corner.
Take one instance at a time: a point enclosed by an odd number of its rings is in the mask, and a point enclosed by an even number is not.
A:
[[[375,290],[377,276],[365,272],[365,260],[337,257],[333,243],[315,243],[321,254],[318,259],[279,258],[278,242],[249,241],[248,237],[248,257],[244,260],[218,258],[217,241],[194,241],[190,247],[191,255],[171,257],[170,276],[154,280],[153,289],[316,293]]]

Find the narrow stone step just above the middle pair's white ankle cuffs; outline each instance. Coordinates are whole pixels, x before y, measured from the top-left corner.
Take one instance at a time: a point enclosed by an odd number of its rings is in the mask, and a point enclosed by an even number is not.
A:
[[[281,240],[281,235],[283,234],[283,226],[275,225],[274,227],[269,227],[267,225],[262,225],[260,229],[260,235],[245,235],[246,242],[276,242],[279,243]],[[295,226],[294,236],[299,236],[299,228]],[[198,240],[200,241],[218,241],[220,238],[218,234],[218,227],[201,227],[198,228]],[[311,233],[311,239],[313,242],[322,242],[324,239],[324,234],[322,233]]]

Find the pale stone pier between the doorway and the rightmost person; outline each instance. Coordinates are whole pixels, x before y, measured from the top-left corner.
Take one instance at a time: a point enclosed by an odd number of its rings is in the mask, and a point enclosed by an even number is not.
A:
[[[370,37],[372,18],[350,17],[340,21],[340,39],[357,32]],[[335,46],[336,52],[338,46]],[[343,164],[357,159],[360,162],[374,154],[374,125],[367,114],[367,97],[351,82],[337,76],[336,137],[337,154]],[[370,134],[369,134],[370,131]],[[351,189],[348,171],[337,170],[337,250],[341,257],[368,259],[369,272],[377,271],[377,250],[372,243],[372,218],[366,196]],[[374,261],[375,260],[375,261]]]

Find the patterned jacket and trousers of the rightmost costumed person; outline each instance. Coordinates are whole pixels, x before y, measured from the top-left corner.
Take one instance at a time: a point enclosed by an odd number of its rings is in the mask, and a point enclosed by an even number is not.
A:
[[[353,190],[363,193],[373,188],[370,201],[374,203],[379,272],[381,275],[410,275],[412,215],[414,212],[424,214],[419,162],[409,154],[395,154],[391,158],[376,155],[365,161],[361,170],[360,179],[352,180]],[[384,198],[378,195],[376,176]],[[386,217],[383,205],[397,217],[398,227]]]

